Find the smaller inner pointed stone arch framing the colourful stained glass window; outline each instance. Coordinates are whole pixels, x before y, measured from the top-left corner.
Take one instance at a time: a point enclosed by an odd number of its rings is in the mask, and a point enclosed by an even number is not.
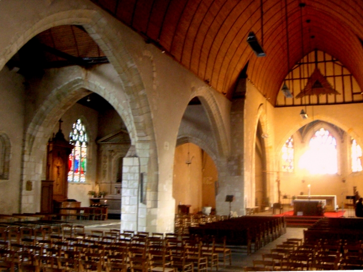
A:
[[[81,69],[81,68],[80,68]],[[135,128],[132,126],[132,115],[129,108],[125,108],[121,101],[116,98],[115,92],[110,91],[99,82],[92,82],[82,76],[76,76],[73,80],[67,81],[61,86],[54,88],[47,96],[42,105],[38,108],[31,123],[25,132],[25,147],[23,158],[23,181],[39,181],[42,175],[42,161],[37,160],[45,152],[46,142],[51,134],[54,124],[59,118],[79,99],[87,96],[90,91],[106,97],[108,102],[115,108],[124,120],[127,129],[130,131],[130,138],[135,141]],[[35,188],[37,188],[35,186]],[[37,194],[38,192],[34,193]],[[37,204],[32,206],[29,199],[30,193],[22,191],[22,211],[37,210]]]

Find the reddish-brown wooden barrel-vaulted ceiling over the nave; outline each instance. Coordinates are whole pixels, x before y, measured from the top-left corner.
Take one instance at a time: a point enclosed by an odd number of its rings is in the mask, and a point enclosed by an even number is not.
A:
[[[363,89],[362,0],[92,2],[228,98],[248,63],[248,78],[275,104],[288,70],[314,49],[337,58]],[[250,31],[266,57],[257,58],[246,42]]]

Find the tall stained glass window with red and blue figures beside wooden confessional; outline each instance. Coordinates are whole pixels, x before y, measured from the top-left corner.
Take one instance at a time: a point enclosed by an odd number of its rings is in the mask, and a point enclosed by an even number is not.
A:
[[[74,145],[69,155],[68,182],[86,182],[87,165],[87,134],[81,119],[73,124],[72,132],[69,135],[70,143]]]

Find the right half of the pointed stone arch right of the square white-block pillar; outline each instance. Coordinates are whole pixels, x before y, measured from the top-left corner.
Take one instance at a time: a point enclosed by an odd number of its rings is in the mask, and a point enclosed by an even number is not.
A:
[[[213,137],[216,142],[218,157],[228,157],[230,154],[230,136],[215,94],[210,88],[200,87],[192,90],[189,101],[198,97],[211,124]]]

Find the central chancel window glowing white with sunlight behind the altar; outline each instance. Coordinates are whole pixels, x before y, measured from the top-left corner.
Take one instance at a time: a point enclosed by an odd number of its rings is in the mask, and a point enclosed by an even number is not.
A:
[[[299,167],[311,174],[336,174],[338,172],[337,141],[321,128],[311,137],[308,150],[301,156]]]

